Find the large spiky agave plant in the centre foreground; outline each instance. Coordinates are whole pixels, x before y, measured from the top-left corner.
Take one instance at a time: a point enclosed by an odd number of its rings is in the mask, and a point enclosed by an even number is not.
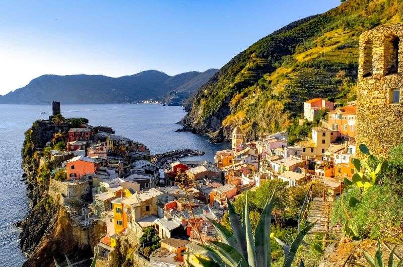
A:
[[[266,203],[263,212],[260,215],[260,220],[256,226],[254,235],[252,234],[252,227],[250,225],[247,195],[243,212],[243,224],[241,224],[232,204],[227,199],[228,214],[233,234],[231,234],[223,225],[209,219],[214,225],[218,236],[220,237],[220,241],[211,241],[211,243],[207,245],[201,245],[204,250],[196,251],[195,254],[207,255],[211,261],[220,266],[270,267],[270,227],[272,221],[274,193],[275,192],[273,192],[270,201]],[[309,223],[304,229],[302,229],[291,245],[288,245],[275,237],[276,241],[284,249],[284,267],[291,266],[304,236],[315,223],[316,222]],[[302,261],[300,266],[303,266]]]

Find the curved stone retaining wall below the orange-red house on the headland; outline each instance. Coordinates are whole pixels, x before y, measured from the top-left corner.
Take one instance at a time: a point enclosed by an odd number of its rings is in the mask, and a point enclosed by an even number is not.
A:
[[[65,199],[73,198],[80,199],[90,192],[90,184],[87,181],[84,182],[68,182],[57,181],[50,178],[49,181],[49,195],[59,202],[60,205],[64,205]]]

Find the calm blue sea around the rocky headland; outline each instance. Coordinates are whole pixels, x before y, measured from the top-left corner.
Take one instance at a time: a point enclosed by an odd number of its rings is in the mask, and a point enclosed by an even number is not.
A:
[[[41,114],[41,112],[46,112]],[[64,117],[86,117],[90,125],[111,126],[116,135],[144,143],[152,154],[191,148],[203,156],[183,160],[214,160],[217,150],[228,143],[211,144],[208,138],[190,132],[175,132],[185,111],[180,106],[160,104],[63,105]],[[20,250],[20,230],[16,222],[29,211],[25,182],[21,181],[21,148],[24,132],[37,119],[51,114],[50,105],[0,105],[0,266],[21,266],[25,256]]]

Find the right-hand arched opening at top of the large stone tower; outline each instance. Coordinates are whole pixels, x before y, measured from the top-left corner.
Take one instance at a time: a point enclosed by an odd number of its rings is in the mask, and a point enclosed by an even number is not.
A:
[[[399,43],[400,38],[394,35],[385,37],[384,41],[384,66],[385,75],[395,74],[399,66]]]

